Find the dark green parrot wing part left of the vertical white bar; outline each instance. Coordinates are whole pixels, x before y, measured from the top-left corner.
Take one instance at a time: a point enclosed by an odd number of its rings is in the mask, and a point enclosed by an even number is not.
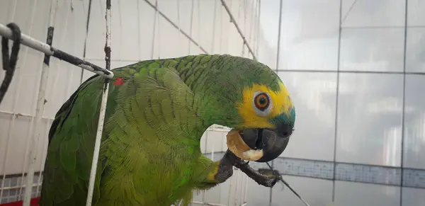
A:
[[[103,85],[101,76],[91,76],[58,110],[48,135],[40,205],[85,205]]]

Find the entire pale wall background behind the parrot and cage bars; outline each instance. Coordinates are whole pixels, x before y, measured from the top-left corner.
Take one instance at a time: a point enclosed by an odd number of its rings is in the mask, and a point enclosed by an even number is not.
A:
[[[58,2],[53,45],[103,67],[106,0]],[[50,4],[1,0],[0,23],[45,40]],[[424,10],[424,0],[113,0],[112,67],[200,53],[255,56],[293,96],[295,132],[273,166],[310,205],[423,206]],[[52,58],[45,138],[29,145],[42,57],[23,47],[0,105],[1,203],[22,198],[29,149],[37,149],[42,171],[52,118],[93,75]],[[220,158],[226,133],[218,126],[205,132],[206,156]],[[34,197],[41,178],[37,173]],[[280,183],[264,188],[239,172],[194,201],[302,205]]]

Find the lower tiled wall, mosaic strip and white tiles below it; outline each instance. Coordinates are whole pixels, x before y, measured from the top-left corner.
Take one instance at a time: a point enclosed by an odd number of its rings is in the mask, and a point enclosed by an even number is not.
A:
[[[215,153],[214,159],[220,159],[222,154]],[[268,168],[266,164],[253,161],[249,164],[255,169]],[[331,161],[293,158],[278,158],[273,161],[273,168],[278,170],[283,179],[311,205],[422,206],[425,204],[424,169],[334,164]],[[253,202],[267,205],[265,203],[267,201],[271,205],[302,205],[302,202],[290,190],[285,189],[283,184],[278,183],[271,192],[256,183],[251,183],[248,188],[249,194],[254,195],[249,199],[249,205]],[[258,196],[262,197],[261,203],[256,199]]]

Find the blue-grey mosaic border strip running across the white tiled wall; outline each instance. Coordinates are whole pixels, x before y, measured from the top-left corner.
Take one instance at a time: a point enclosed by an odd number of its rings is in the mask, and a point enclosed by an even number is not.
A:
[[[219,160],[223,154],[223,152],[215,153],[214,160]],[[205,154],[205,156],[210,157],[211,154]],[[266,164],[254,161],[249,164],[255,169],[268,168]],[[275,159],[273,168],[278,170],[280,174],[289,176],[378,185],[403,185],[403,187],[425,189],[425,169],[334,163],[331,161],[284,157]]]

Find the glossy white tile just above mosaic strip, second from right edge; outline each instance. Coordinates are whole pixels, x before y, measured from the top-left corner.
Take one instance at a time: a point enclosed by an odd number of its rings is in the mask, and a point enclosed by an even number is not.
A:
[[[402,74],[339,74],[336,161],[400,166]]]

